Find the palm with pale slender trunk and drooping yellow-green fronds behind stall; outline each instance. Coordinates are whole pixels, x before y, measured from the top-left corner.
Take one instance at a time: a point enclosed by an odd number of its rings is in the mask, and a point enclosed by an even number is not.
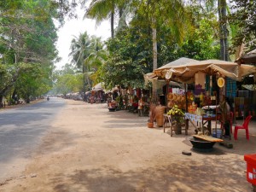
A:
[[[149,20],[149,27],[152,32],[153,47],[153,70],[157,65],[157,28],[166,25],[172,28],[174,36],[182,42],[187,23],[182,0],[175,0],[170,3],[167,0],[160,1],[134,1],[135,13],[144,15]],[[153,84],[153,99],[156,100],[156,84]]]

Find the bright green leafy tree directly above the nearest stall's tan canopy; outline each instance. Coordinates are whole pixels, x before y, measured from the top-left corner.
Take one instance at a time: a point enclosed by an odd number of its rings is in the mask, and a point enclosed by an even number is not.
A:
[[[188,12],[190,20],[193,20],[192,29],[186,35],[183,44],[174,49],[172,55],[176,57],[175,59],[183,56],[195,60],[218,59],[220,53],[218,18],[214,10],[204,12],[198,4],[191,4]]]

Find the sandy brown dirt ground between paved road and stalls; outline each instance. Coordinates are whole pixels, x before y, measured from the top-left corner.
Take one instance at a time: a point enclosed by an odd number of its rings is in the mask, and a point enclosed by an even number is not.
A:
[[[255,153],[239,131],[234,148],[216,143],[211,153],[192,150],[188,137],[147,128],[148,117],[108,112],[107,104],[66,100],[26,170],[0,191],[252,191],[244,154]],[[189,135],[194,133],[189,127]],[[182,151],[192,152],[184,155]]]

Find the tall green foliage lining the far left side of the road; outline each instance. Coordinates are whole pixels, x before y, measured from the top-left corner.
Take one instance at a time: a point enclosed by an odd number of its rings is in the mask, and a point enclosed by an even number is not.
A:
[[[3,0],[0,3],[0,102],[15,91],[26,99],[52,86],[57,56],[57,10],[48,0]],[[3,84],[2,84],[3,83]]]

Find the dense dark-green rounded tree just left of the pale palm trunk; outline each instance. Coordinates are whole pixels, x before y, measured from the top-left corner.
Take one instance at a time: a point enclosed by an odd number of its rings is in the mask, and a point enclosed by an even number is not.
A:
[[[119,32],[108,40],[109,59],[102,65],[100,79],[108,89],[119,84],[122,87],[143,87],[143,73],[147,70],[142,47],[137,47],[137,40],[129,30]]]

